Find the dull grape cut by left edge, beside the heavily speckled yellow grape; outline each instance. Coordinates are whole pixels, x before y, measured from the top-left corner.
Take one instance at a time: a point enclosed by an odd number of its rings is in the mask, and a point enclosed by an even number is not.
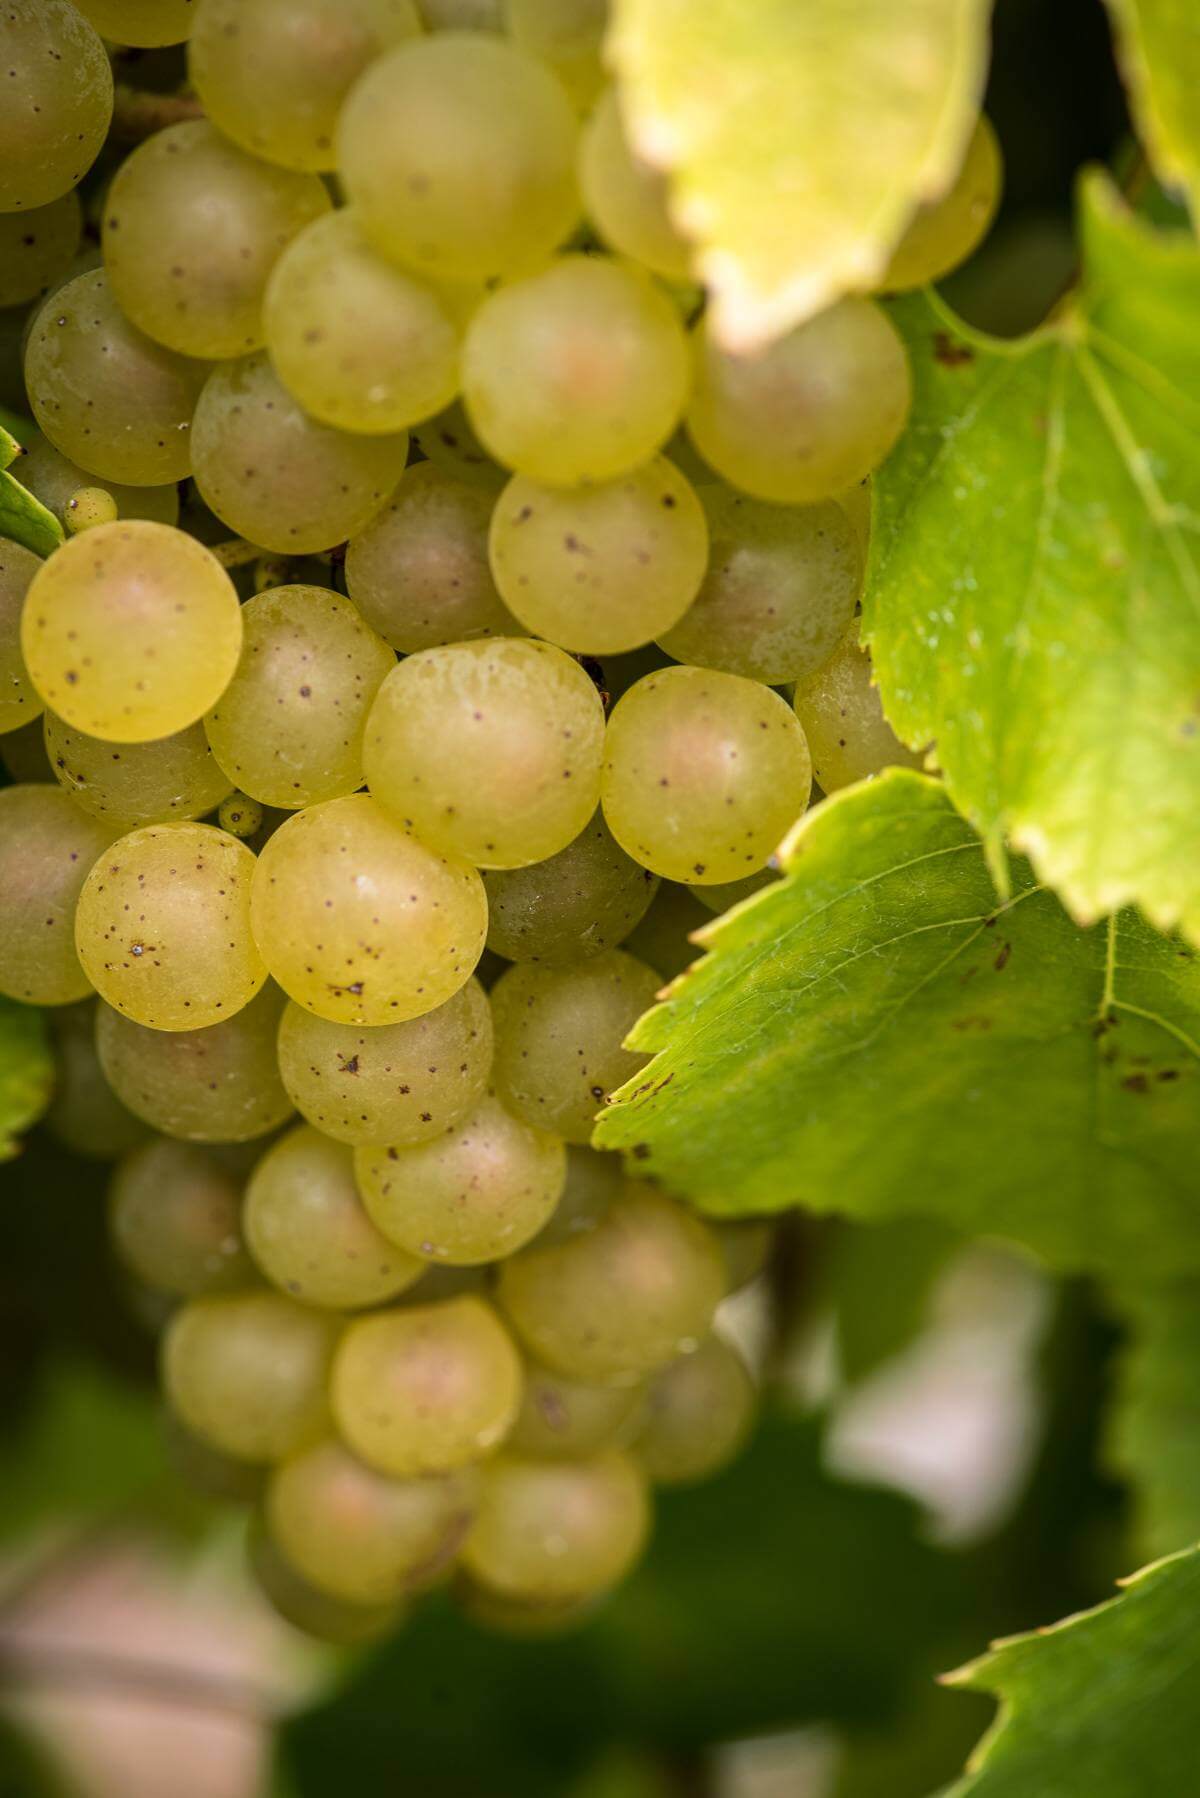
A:
[[[112,840],[61,788],[0,791],[0,992],[67,1005],[92,991],[76,955],[76,904]]]

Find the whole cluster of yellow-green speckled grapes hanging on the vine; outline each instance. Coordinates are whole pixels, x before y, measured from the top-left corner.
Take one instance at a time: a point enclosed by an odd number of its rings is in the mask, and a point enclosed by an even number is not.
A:
[[[855,628],[903,345],[865,297],[716,340],[603,29],[0,7],[4,396],[67,529],[0,541],[0,991],[52,1007],[50,1127],[117,1162],[180,1465],[338,1640],[450,1568],[488,1624],[569,1620],[649,1483],[736,1453],[712,1325],[768,1232],[592,1124],[813,775],[910,759]],[[187,41],[198,104],[86,176],[101,32]],[[887,286],[997,185],[981,122]]]

